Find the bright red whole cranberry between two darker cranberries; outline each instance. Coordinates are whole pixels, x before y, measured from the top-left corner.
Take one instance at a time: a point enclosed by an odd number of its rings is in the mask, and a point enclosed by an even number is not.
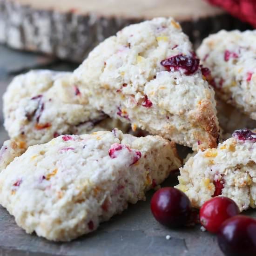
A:
[[[239,213],[239,208],[232,199],[217,196],[202,205],[200,222],[209,232],[216,233],[225,220]]]

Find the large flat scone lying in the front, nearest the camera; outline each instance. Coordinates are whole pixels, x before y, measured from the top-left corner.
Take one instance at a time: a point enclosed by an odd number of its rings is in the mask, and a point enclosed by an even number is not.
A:
[[[0,204],[27,233],[69,241],[144,200],[180,166],[174,142],[160,136],[61,135],[0,173]]]

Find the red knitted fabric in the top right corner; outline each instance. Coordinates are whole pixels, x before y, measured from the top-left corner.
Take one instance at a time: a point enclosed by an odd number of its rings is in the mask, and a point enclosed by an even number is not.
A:
[[[256,27],[256,0],[207,0]]]

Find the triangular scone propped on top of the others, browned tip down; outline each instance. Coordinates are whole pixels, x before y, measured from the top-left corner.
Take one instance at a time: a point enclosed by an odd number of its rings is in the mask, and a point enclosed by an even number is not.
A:
[[[73,76],[92,106],[130,122],[134,130],[194,150],[217,145],[214,91],[172,18],[125,27],[95,47]]]

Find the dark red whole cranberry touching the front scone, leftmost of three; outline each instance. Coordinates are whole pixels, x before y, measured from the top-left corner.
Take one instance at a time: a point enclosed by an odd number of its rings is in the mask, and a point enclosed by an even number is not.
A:
[[[186,225],[191,213],[187,195],[175,188],[162,188],[151,199],[151,211],[155,219],[169,227]]]

